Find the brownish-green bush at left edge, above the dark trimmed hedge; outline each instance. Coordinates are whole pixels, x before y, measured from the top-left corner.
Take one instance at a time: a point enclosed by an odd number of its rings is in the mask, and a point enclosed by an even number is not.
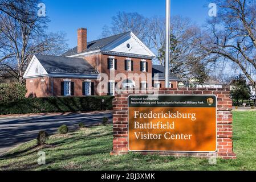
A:
[[[19,83],[0,84],[0,103],[25,99],[26,85]]]

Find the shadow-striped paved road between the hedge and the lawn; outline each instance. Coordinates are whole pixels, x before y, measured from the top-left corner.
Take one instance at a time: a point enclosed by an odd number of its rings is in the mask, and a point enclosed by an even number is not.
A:
[[[0,118],[0,156],[18,144],[35,139],[40,130],[53,134],[64,124],[70,130],[74,130],[80,122],[86,126],[95,125],[101,123],[103,117],[109,118],[109,122],[112,122],[111,111]]]

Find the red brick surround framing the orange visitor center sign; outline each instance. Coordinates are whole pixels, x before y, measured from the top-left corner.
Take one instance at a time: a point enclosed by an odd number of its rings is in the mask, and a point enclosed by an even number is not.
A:
[[[233,153],[232,101],[229,89],[167,89],[117,91],[113,100],[113,151],[111,155],[128,154],[128,96],[141,94],[173,94],[173,95],[209,95],[217,96],[217,156],[222,159],[235,159]],[[141,154],[159,154],[170,156],[194,156],[209,158],[213,153],[208,152],[140,152]]]

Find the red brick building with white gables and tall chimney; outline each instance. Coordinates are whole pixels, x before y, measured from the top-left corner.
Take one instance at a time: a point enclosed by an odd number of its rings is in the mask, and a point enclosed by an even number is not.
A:
[[[164,67],[135,34],[125,32],[87,42],[78,30],[78,46],[61,56],[34,55],[25,72],[27,97],[113,95],[116,89],[164,87]],[[177,88],[178,78],[170,74]]]

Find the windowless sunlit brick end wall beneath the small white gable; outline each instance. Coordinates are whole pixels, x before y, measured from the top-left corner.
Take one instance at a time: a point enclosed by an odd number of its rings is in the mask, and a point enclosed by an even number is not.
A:
[[[26,88],[26,97],[48,97],[51,90],[49,77],[27,78]]]

